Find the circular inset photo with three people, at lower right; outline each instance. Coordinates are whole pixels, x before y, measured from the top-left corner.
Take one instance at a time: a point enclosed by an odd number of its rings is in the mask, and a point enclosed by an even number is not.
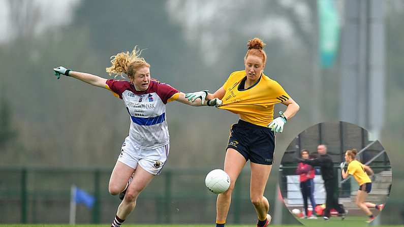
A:
[[[285,205],[303,224],[378,222],[390,194],[386,150],[366,129],[339,121],[307,128],[289,144],[279,167]]]

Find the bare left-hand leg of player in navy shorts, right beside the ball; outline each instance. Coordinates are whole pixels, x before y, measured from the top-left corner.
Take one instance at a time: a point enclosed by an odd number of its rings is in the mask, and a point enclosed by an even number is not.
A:
[[[230,187],[219,194],[216,201],[216,220],[226,220],[231,203],[231,193],[237,177],[245,165],[245,158],[233,148],[227,148],[224,171],[230,177]]]

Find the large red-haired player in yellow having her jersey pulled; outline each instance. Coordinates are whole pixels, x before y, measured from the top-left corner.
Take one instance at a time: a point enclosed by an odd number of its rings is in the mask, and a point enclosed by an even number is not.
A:
[[[264,45],[258,38],[248,41],[245,70],[231,73],[225,84],[213,94],[203,90],[185,95],[190,101],[199,98],[204,102],[206,99],[207,105],[240,116],[230,129],[224,164],[224,171],[230,176],[230,187],[217,197],[217,227],[225,226],[235,182],[248,160],[251,161],[250,198],[257,212],[257,226],[266,227],[271,221],[264,190],[273,163],[275,133],[283,132],[284,124],[296,114],[299,105],[281,85],[263,73],[266,62]],[[273,119],[273,107],[277,103],[286,105],[287,109]]]

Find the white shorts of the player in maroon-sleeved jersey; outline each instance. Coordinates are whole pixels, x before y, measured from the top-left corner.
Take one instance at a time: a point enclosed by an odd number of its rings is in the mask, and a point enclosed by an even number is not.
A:
[[[139,164],[139,166],[150,174],[159,175],[166,164],[169,150],[170,144],[148,150],[125,141],[122,144],[118,161],[133,169],[136,169]]]

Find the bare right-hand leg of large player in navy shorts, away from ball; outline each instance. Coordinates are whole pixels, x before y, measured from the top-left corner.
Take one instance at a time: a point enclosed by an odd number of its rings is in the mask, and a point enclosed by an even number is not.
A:
[[[269,202],[264,197],[264,190],[268,181],[269,173],[272,165],[262,165],[251,163],[251,182],[250,182],[250,198],[258,219],[265,220],[269,211]]]

